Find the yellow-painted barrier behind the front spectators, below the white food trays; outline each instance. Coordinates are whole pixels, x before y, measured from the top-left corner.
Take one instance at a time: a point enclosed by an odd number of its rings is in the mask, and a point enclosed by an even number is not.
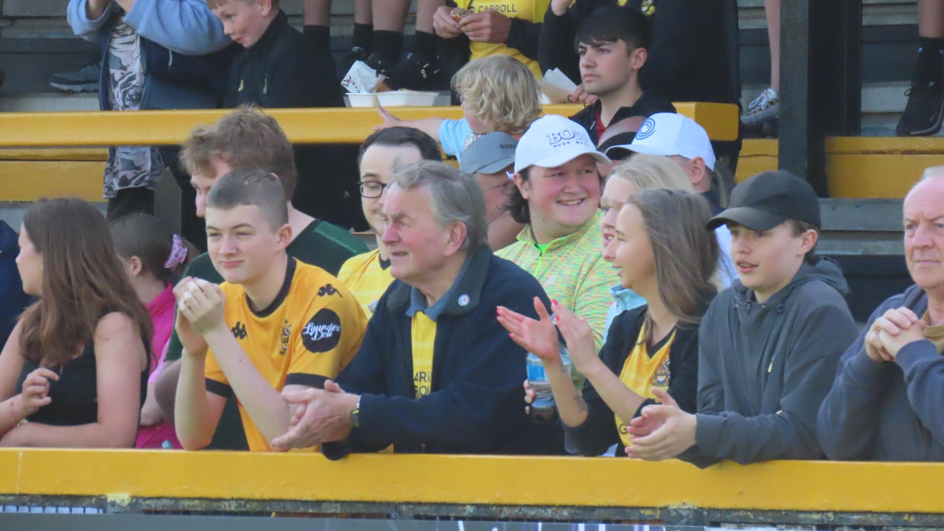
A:
[[[718,140],[737,136],[733,105],[677,103]],[[551,105],[546,113],[572,115],[580,105]],[[461,118],[459,107],[391,109],[404,120]],[[197,125],[228,111],[2,112],[0,113],[0,201],[77,196],[102,200],[108,151],[85,146],[157,146],[182,142]],[[267,109],[298,144],[360,144],[382,123],[374,109]],[[57,146],[50,148],[48,146]],[[71,148],[69,146],[72,146]]]

